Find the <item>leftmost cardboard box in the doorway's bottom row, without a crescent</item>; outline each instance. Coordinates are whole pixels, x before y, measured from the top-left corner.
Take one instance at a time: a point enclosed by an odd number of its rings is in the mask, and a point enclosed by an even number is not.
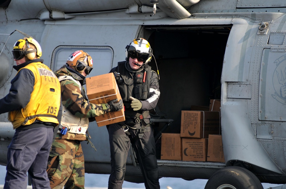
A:
[[[182,139],[180,133],[162,133],[161,159],[182,160]]]

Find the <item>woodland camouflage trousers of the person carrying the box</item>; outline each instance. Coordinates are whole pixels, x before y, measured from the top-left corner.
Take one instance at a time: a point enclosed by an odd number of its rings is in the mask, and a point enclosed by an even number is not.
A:
[[[49,153],[47,173],[52,189],[84,189],[84,154],[80,141],[55,139]]]

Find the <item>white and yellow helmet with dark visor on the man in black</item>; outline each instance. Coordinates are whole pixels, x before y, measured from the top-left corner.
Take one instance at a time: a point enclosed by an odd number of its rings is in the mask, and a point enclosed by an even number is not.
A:
[[[126,46],[126,60],[131,58],[137,58],[138,61],[142,61],[147,64],[152,57],[152,49],[149,42],[143,38],[134,39],[129,45]]]

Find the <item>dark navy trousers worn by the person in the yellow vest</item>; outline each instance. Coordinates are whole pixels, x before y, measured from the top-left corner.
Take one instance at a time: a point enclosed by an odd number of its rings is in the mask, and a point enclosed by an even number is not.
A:
[[[27,172],[33,188],[50,189],[46,172],[53,128],[16,130],[8,146],[4,188],[27,188]]]

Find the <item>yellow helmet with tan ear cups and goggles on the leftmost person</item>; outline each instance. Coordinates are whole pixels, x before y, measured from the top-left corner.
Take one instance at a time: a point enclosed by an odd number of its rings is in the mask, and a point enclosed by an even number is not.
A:
[[[15,60],[25,57],[26,61],[42,56],[42,49],[39,43],[31,38],[19,39],[13,46],[12,54]]]

